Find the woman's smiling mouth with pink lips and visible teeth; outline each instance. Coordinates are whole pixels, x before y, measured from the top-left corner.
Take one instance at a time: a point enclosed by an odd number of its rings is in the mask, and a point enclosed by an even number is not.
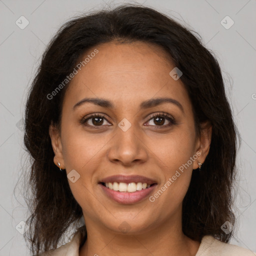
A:
[[[104,194],[118,203],[136,203],[156,187],[156,181],[139,175],[114,175],[99,182]]]

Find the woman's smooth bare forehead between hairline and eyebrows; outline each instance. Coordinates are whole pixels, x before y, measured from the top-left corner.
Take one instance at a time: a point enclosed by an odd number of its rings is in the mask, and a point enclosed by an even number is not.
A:
[[[98,52],[91,54],[95,49]],[[108,98],[121,105],[154,95],[188,99],[181,80],[169,75],[174,66],[158,45],[109,42],[88,50],[81,61],[86,57],[89,61],[72,78],[64,101],[75,104],[90,96]]]

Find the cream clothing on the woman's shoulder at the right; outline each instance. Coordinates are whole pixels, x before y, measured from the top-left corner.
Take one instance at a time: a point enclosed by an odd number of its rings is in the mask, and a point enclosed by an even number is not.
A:
[[[205,235],[195,256],[255,256],[249,249],[237,245],[221,242],[218,239]]]

